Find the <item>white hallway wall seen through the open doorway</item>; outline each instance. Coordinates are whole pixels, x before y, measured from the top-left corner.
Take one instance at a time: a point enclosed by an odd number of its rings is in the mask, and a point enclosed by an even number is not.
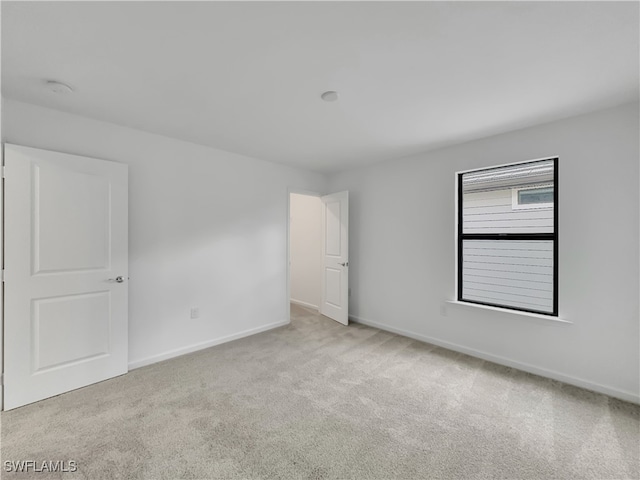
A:
[[[291,194],[291,301],[315,309],[322,294],[321,206],[320,197]]]

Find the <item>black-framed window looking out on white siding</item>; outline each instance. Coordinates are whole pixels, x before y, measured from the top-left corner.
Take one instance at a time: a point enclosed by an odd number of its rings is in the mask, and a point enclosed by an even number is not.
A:
[[[458,301],[558,315],[558,159],[458,173]]]

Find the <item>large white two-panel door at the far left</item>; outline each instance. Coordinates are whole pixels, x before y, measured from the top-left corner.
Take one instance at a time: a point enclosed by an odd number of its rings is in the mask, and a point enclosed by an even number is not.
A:
[[[127,372],[124,164],[5,145],[4,408]]]

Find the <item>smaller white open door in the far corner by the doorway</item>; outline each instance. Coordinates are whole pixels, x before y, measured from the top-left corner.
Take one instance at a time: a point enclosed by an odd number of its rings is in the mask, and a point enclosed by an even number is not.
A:
[[[349,324],[349,192],[322,197],[320,313]]]

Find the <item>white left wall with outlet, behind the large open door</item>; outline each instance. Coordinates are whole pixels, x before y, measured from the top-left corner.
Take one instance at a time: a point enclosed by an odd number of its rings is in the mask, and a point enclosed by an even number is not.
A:
[[[4,142],[129,164],[130,365],[287,321],[288,188],[324,176],[13,100],[2,117]]]

